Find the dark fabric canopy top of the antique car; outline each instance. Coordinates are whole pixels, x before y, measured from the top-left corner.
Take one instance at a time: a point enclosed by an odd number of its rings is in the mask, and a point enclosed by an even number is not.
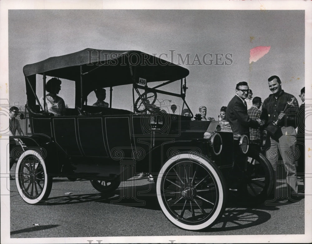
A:
[[[188,69],[140,51],[116,51],[87,48],[75,53],[51,57],[25,65],[25,77],[35,74],[82,81],[83,94],[100,87],[147,82],[178,80],[189,74]]]

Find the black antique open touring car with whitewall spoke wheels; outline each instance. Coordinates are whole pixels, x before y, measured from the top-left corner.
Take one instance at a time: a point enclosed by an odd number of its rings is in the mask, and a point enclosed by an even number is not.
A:
[[[53,177],[88,179],[110,195],[121,181],[147,172],[165,216],[180,228],[200,230],[222,216],[229,193],[250,205],[272,190],[271,164],[246,136],[234,135],[225,122],[193,119],[185,100],[188,69],[140,51],[85,49],[23,72],[32,135],[12,137],[19,143],[12,155],[27,203],[45,201]],[[39,101],[46,99],[49,77],[61,79],[62,87],[71,84],[64,88],[63,116]],[[109,91],[109,108],[90,102],[100,88]],[[124,109],[127,88],[132,99]]]

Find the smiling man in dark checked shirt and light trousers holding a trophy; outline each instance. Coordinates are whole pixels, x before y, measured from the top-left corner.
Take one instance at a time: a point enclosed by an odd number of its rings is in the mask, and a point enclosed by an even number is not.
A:
[[[266,157],[271,162],[275,170],[275,161],[281,155],[286,171],[286,183],[289,186],[290,199],[298,193],[298,183],[296,176],[296,161],[293,155],[296,155],[296,113],[298,110],[297,99],[282,90],[280,78],[276,75],[268,79],[270,94],[262,104],[261,120],[265,125],[270,122],[276,122],[278,126],[277,133],[267,134],[267,140],[270,142],[270,148],[266,151]],[[289,199],[289,200],[290,200]]]

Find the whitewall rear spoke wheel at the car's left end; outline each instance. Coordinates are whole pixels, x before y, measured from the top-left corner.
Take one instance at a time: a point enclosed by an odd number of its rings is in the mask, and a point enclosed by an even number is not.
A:
[[[27,150],[17,161],[15,180],[18,193],[30,204],[48,198],[52,188],[52,177],[46,173],[46,164],[38,152]]]

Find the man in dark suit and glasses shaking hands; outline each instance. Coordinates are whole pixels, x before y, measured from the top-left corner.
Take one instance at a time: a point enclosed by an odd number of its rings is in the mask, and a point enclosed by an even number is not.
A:
[[[246,81],[236,84],[235,93],[227,105],[227,121],[230,122],[234,134],[244,134],[250,138],[249,128],[258,128],[262,122],[260,119],[251,119],[247,113],[245,98],[248,96],[249,87]]]

